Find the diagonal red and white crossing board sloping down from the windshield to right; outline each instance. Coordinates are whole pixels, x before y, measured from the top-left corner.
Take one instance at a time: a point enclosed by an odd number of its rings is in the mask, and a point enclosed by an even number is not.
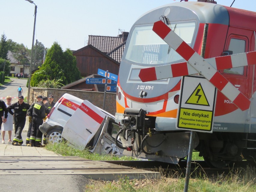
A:
[[[224,78],[224,76],[222,76],[214,67],[212,67],[209,62],[206,61],[206,59],[201,57],[177,34],[175,34],[175,32],[166,26],[166,24],[164,24],[162,21],[155,22],[153,31],[167,44],[169,44],[169,46],[172,47],[177,53],[179,53],[187,61],[187,63],[197,71],[197,73],[203,75],[238,108],[244,111],[250,107],[251,102],[247,97],[245,97],[238,89],[236,89],[235,86],[233,86],[226,78]],[[183,67],[186,68],[187,64],[185,63],[183,65]],[[230,62],[228,65],[230,65]],[[219,66],[217,65],[217,62],[216,66]]]

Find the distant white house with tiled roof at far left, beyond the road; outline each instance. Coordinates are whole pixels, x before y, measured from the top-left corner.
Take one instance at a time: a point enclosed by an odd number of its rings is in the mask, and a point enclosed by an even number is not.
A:
[[[25,57],[28,62],[20,62],[19,57]],[[14,53],[12,51],[8,51],[7,53],[7,59],[11,63],[11,71],[9,76],[14,76],[16,73],[23,73],[24,74],[29,74],[29,62],[30,62],[30,57],[29,56],[23,56],[22,53]]]

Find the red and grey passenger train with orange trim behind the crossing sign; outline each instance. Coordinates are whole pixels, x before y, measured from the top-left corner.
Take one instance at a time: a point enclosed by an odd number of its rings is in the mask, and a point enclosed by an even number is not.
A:
[[[207,59],[255,51],[256,13],[215,1],[186,1],[148,11],[133,24],[117,81],[116,140],[121,139],[125,155],[178,164],[187,157],[190,141],[190,131],[176,129],[182,77],[148,82],[139,78],[141,69],[185,61],[152,31],[159,20]],[[196,132],[192,146],[213,167],[256,158],[254,68],[219,71],[251,104],[242,111],[217,91],[213,132]]]

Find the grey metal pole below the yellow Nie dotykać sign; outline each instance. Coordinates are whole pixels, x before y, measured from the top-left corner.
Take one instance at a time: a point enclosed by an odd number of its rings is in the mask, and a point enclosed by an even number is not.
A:
[[[190,177],[190,169],[191,169],[191,160],[192,160],[192,152],[193,152],[194,136],[195,136],[195,132],[191,131],[190,141],[189,141],[189,149],[188,149],[188,156],[187,156],[187,170],[186,170],[184,192],[187,192],[187,190],[188,190],[189,177]]]

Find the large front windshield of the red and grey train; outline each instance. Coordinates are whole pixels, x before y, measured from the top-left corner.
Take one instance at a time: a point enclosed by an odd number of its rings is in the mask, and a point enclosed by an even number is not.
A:
[[[170,28],[187,44],[191,44],[196,22],[171,23]],[[135,62],[137,65],[165,65],[184,60],[178,53],[169,47],[154,31],[153,24],[135,26],[130,37],[125,60]]]

